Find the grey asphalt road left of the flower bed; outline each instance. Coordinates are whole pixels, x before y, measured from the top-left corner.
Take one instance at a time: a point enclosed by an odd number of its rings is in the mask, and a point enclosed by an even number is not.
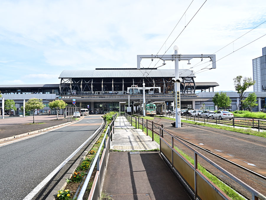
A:
[[[0,199],[24,199],[77,150],[102,122],[100,116],[86,116],[69,126],[0,146]],[[81,148],[77,154],[84,149],[85,147]],[[75,156],[69,162],[73,162],[74,159]],[[52,187],[51,184],[49,187]],[[38,195],[42,194],[39,192],[33,199],[41,199]]]

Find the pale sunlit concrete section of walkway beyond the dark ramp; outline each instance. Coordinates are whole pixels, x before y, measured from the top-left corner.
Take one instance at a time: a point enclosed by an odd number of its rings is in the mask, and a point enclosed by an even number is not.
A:
[[[113,141],[111,149],[121,151],[151,150],[160,148],[160,145],[152,141],[141,129],[135,129],[126,120],[125,116],[119,116],[114,123]]]

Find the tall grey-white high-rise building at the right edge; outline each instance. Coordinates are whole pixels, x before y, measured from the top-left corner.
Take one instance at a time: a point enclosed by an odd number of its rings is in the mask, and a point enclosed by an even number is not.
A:
[[[252,60],[254,92],[266,90],[266,47],[262,48],[262,56]],[[263,89],[262,89],[263,88]]]

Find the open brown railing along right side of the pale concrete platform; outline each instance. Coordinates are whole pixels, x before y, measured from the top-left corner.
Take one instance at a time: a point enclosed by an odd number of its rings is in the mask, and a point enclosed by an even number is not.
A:
[[[148,130],[150,130],[152,132],[152,141],[154,141],[154,133],[156,133],[157,135],[160,135],[158,127],[162,127],[163,128],[163,124],[157,124],[157,123],[155,123],[153,121],[150,121],[148,119],[143,119],[143,118],[136,117],[136,116],[133,117],[133,116],[127,114],[127,113],[125,113],[125,117],[126,117],[127,121],[129,121],[129,123],[132,126],[134,126],[136,129],[137,128],[139,129],[140,125],[141,125],[142,126],[142,131],[146,132],[147,135],[148,135]],[[149,127],[149,125],[150,125],[150,127]],[[145,129],[146,129],[146,131],[145,131]]]

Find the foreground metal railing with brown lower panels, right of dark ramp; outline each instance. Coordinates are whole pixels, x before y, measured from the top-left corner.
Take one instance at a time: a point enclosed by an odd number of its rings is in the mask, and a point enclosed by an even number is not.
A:
[[[208,163],[210,163],[211,165],[213,165],[214,167],[216,167],[220,172],[223,172],[225,175],[227,175],[228,177],[230,177],[232,180],[234,180],[236,183],[238,183],[239,185],[241,185],[242,187],[246,188],[247,191],[249,191],[252,194],[252,200],[266,200],[266,197],[263,196],[261,193],[259,193],[258,191],[256,191],[255,189],[253,189],[252,187],[250,187],[249,185],[247,185],[246,183],[244,183],[243,181],[239,180],[237,177],[235,177],[234,175],[232,175],[231,173],[229,173],[228,171],[226,171],[225,169],[223,169],[222,167],[220,167],[218,164],[216,164],[215,162],[211,161],[210,159],[208,159],[206,156],[202,155],[200,152],[196,151],[194,148],[192,148],[191,146],[187,145],[186,143],[184,143],[182,140],[178,139],[177,137],[175,137],[174,135],[172,135],[171,133],[169,133],[166,129],[163,129],[162,127],[159,127],[160,129],[160,152],[163,154],[163,156],[165,158],[167,158],[168,162],[170,162],[172,169],[175,169],[178,173],[179,173],[179,166],[182,164],[181,162],[183,161],[184,166],[186,166],[186,173],[188,173],[189,169],[192,168],[192,170],[194,171],[194,185],[193,183],[190,181],[190,188],[192,189],[192,192],[194,193],[194,197],[195,199],[197,197],[200,197],[201,199],[209,199],[210,193],[202,193],[201,191],[198,191],[197,189],[200,188],[201,185],[199,184],[204,184],[205,182],[207,183],[207,185],[209,185],[209,189],[210,190],[214,190],[216,191],[223,199],[230,199],[225,193],[223,193],[219,188],[217,188],[217,186],[211,182],[205,175],[203,175],[199,169],[197,169],[198,166],[198,161],[197,158],[198,156],[201,157],[202,159],[204,159],[205,161],[207,161]],[[163,133],[166,132],[168,134],[168,137],[171,137],[171,144],[169,144],[164,138],[163,138]],[[194,166],[189,163],[188,160],[186,160],[175,148],[174,148],[174,141],[177,141],[179,143],[181,143],[182,145],[184,145],[185,147],[187,147],[189,150],[191,150],[194,153]],[[171,151],[171,153],[170,153]],[[178,156],[178,157],[176,157]],[[178,165],[176,165],[176,163],[178,162]],[[186,176],[184,174],[181,174],[181,176]],[[191,176],[190,176],[191,177]],[[191,180],[191,179],[190,179]],[[203,181],[202,181],[203,180]],[[189,181],[186,180],[186,182],[188,183]],[[194,190],[193,190],[194,188]],[[206,190],[208,190],[208,188],[204,188]],[[207,196],[205,196],[207,195]]]

